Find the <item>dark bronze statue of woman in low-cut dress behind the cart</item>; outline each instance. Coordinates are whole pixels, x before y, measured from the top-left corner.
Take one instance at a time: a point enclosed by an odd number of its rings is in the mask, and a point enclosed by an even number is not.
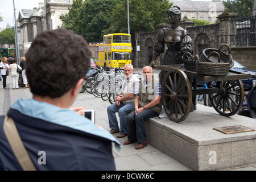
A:
[[[164,52],[164,44],[167,46],[166,53],[161,65],[183,64],[183,53],[192,50],[192,39],[187,30],[179,26],[181,19],[180,7],[173,6],[166,11],[167,19],[171,24],[170,27],[162,28],[157,34],[158,42],[155,43],[153,58],[150,63],[151,67],[155,67],[156,58]]]

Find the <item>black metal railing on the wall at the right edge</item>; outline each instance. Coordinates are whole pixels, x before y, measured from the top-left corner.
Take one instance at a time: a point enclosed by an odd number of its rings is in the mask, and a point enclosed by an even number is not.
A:
[[[256,16],[231,19],[230,45],[236,47],[256,46]]]

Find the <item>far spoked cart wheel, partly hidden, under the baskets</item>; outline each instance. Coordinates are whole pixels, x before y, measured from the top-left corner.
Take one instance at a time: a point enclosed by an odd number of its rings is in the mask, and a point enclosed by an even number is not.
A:
[[[214,109],[224,116],[237,114],[243,105],[243,84],[241,80],[220,81],[216,85],[220,93],[209,94]]]

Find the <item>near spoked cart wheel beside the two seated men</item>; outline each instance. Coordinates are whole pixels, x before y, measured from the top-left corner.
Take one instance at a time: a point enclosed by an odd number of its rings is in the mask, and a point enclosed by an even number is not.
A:
[[[162,99],[166,114],[174,122],[184,121],[191,109],[192,90],[187,75],[170,69],[163,78]]]

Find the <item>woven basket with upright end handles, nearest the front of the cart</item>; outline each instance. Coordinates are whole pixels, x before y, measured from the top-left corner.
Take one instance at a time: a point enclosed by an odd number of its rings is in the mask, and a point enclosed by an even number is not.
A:
[[[212,57],[214,57],[214,59],[218,57],[218,63],[213,61],[211,59]],[[198,55],[195,56],[195,59],[197,61],[196,71],[201,75],[226,76],[228,75],[230,64],[232,64],[232,56],[230,54],[226,57],[225,60],[222,60],[221,63],[221,56],[218,52],[215,51],[209,53],[207,59],[210,61],[208,62],[202,62]]]

